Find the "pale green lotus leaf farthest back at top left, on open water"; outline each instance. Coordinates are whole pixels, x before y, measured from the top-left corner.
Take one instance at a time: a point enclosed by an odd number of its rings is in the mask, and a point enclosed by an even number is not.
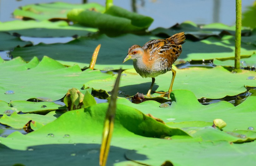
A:
[[[84,9],[84,10],[96,10],[103,12],[105,7],[98,3],[86,3],[86,4],[71,4],[65,2],[54,3],[41,3],[23,6],[21,9],[16,9],[13,15],[16,18],[31,18],[35,20],[48,20],[52,18],[67,19],[67,13],[71,9]]]

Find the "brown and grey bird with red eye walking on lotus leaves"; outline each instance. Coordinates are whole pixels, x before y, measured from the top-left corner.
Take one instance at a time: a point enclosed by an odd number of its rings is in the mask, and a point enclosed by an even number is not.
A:
[[[151,77],[152,83],[147,92],[148,97],[152,87],[155,83],[155,77],[160,74],[165,74],[172,71],[172,79],[168,92],[155,92],[162,94],[164,97],[172,92],[173,82],[176,76],[176,71],[172,69],[172,64],[178,59],[182,52],[182,44],[185,43],[185,33],[177,33],[167,39],[150,40],[142,47],[140,45],[133,45],[129,48],[126,58],[123,63],[129,59],[133,60],[134,69],[142,78]]]

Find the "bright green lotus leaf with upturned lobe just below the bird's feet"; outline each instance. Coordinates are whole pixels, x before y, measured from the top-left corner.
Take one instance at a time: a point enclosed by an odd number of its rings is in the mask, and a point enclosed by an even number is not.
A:
[[[213,122],[214,119],[222,119],[227,123],[224,131],[246,130],[250,126],[256,126],[253,118],[255,116],[256,96],[248,97],[238,106],[221,101],[209,105],[202,105],[198,102],[195,95],[188,90],[174,90],[171,94],[173,102],[170,107],[161,108],[160,103],[146,101],[140,104],[133,104],[126,99],[119,99],[117,103],[122,103],[129,107],[134,107],[144,114],[151,114],[162,119],[169,126],[186,127],[205,127],[209,124],[198,125],[200,121]],[[189,125],[176,125],[184,121],[191,121]],[[197,123],[195,123],[197,121]],[[198,122],[199,121],[199,122]],[[172,122],[172,123],[168,123]],[[188,122],[187,122],[188,123]]]

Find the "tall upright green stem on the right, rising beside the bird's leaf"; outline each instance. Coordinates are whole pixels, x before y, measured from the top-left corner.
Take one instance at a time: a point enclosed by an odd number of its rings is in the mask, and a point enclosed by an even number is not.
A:
[[[236,0],[236,31],[235,31],[235,67],[233,72],[242,72],[240,69],[241,49],[241,26],[242,26],[242,0]]]

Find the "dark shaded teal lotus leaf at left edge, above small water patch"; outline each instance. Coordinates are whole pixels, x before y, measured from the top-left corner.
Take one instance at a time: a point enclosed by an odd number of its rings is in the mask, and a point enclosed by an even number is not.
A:
[[[11,50],[17,46],[24,47],[25,45],[32,45],[32,43],[29,41],[22,41],[20,38],[8,33],[0,32],[0,50]]]

